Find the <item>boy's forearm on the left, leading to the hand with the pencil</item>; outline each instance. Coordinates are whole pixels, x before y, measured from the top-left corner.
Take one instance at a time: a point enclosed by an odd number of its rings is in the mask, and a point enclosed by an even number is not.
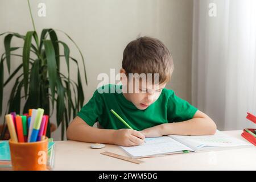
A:
[[[114,131],[77,124],[68,129],[67,136],[81,142],[114,144]]]

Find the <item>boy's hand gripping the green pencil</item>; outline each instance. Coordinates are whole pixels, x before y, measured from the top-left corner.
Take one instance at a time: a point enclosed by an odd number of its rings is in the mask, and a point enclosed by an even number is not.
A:
[[[119,129],[114,131],[114,144],[119,146],[138,146],[144,143],[145,136],[136,130]]]

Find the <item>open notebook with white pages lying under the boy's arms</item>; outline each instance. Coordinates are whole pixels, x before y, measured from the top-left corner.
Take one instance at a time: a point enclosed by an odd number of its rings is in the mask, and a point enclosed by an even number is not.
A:
[[[164,137],[146,138],[145,143],[140,146],[120,147],[133,158],[145,158],[189,151],[224,150],[249,146],[253,145],[241,139],[230,137],[221,131],[216,131],[214,135],[168,135]]]

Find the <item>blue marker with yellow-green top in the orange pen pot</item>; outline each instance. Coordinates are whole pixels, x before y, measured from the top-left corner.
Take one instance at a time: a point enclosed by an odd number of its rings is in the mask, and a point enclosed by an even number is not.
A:
[[[43,114],[44,114],[44,110],[39,108],[37,113],[36,113],[34,126],[33,126],[31,137],[30,137],[30,140],[29,140],[30,142],[36,142],[36,139],[38,138],[38,133],[39,133],[39,129],[40,129],[40,126],[41,126]],[[33,113],[32,113],[32,115],[33,115]],[[31,125],[32,125],[32,123],[30,123],[30,126]]]

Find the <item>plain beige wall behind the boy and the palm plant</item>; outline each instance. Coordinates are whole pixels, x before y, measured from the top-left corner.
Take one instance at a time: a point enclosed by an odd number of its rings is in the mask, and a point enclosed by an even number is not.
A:
[[[46,17],[37,15],[40,2],[46,3]],[[97,75],[109,74],[110,68],[119,71],[123,49],[138,35],[153,36],[166,44],[175,64],[174,75],[167,88],[191,101],[192,0],[33,0],[31,7],[36,30],[49,27],[63,30],[81,48],[89,82],[88,86],[84,86],[85,103],[100,82]],[[26,34],[26,31],[32,30],[27,1],[1,0],[0,12],[0,32]],[[60,34],[59,38],[64,36]],[[72,45],[67,39],[63,40]],[[19,42],[15,40],[12,45],[18,46]],[[71,55],[79,59],[79,53],[71,47]],[[0,38],[0,50],[3,53],[3,36]],[[21,59],[15,60],[16,65],[22,62]],[[63,68],[67,72],[65,65]],[[76,78],[76,73],[71,75]],[[10,86],[7,86],[4,108],[9,93]],[[53,137],[59,139],[59,131]]]

